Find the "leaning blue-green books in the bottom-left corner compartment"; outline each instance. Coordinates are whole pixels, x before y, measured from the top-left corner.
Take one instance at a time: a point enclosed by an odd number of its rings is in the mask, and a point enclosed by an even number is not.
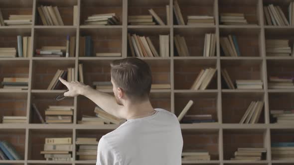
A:
[[[0,160],[23,160],[13,145],[7,141],[0,141]]]

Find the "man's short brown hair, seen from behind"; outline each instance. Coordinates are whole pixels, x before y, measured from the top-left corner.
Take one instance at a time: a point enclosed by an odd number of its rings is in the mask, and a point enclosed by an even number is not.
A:
[[[148,98],[152,77],[148,64],[136,57],[114,60],[111,64],[111,77],[117,87],[134,101]]]

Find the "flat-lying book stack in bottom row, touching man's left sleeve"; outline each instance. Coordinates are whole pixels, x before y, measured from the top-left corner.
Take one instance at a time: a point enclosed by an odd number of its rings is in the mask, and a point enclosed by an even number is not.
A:
[[[97,159],[97,138],[77,138],[76,145],[79,146],[77,156],[80,161]]]

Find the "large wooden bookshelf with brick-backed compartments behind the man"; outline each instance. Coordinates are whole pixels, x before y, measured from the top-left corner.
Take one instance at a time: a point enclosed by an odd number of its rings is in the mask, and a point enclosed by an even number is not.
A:
[[[24,124],[0,124],[0,140],[12,143],[23,156],[19,161],[3,161],[11,165],[94,165],[96,161],[79,161],[76,145],[73,145],[73,161],[45,161],[39,154],[45,137],[96,137],[116,129],[118,125],[78,124],[82,115],[94,115],[95,104],[84,96],[66,98],[59,102],[54,97],[66,88],[47,90],[57,69],[75,68],[78,80],[78,65],[84,65],[84,82],[110,80],[109,63],[114,59],[131,56],[127,34],[148,36],[155,49],[159,50],[159,34],[168,34],[168,57],[140,57],[151,68],[153,83],[169,83],[170,89],[152,89],[150,101],[154,108],[164,108],[178,115],[189,99],[195,103],[189,114],[211,114],[215,123],[181,124],[184,149],[205,149],[211,161],[183,161],[184,165],[292,165],[294,160],[272,159],[271,143],[291,142],[294,126],[276,124],[270,121],[270,110],[293,109],[293,89],[270,89],[270,76],[291,76],[294,58],[266,56],[266,39],[289,39],[293,49],[293,26],[269,26],[264,21],[263,6],[281,5],[288,16],[287,6],[291,0],[178,0],[184,21],[187,15],[214,16],[215,25],[178,25],[173,18],[173,0],[1,0],[3,18],[10,14],[32,14],[32,25],[0,26],[0,47],[17,47],[17,35],[31,36],[31,52],[42,46],[65,46],[66,36],[76,37],[74,57],[0,58],[0,81],[3,77],[29,78],[27,90],[0,89],[0,115],[26,116]],[[56,5],[64,26],[44,26],[37,11],[39,5]],[[78,6],[77,25],[73,25],[73,6]],[[169,5],[170,20],[166,24],[166,8]],[[128,15],[149,14],[153,10],[165,25],[129,25]],[[118,25],[85,25],[92,14],[115,12],[120,19]],[[220,24],[223,12],[243,12],[248,25]],[[203,57],[205,33],[216,34],[216,53]],[[184,36],[189,57],[178,56],[175,35]],[[241,57],[225,57],[220,46],[220,37],[235,35],[238,39]],[[121,53],[121,57],[80,57],[79,38],[91,36],[94,53]],[[95,55],[94,55],[95,56]],[[190,87],[202,68],[216,68],[212,82],[205,90],[191,90]],[[263,89],[228,89],[221,76],[221,69],[227,69],[233,81],[238,79],[263,82]],[[103,91],[112,93],[111,89]],[[246,108],[253,100],[263,100],[264,107],[257,124],[239,124]],[[72,124],[41,124],[31,110],[35,103],[44,117],[48,105],[73,105]],[[231,161],[238,147],[267,148],[266,156],[259,162]]]

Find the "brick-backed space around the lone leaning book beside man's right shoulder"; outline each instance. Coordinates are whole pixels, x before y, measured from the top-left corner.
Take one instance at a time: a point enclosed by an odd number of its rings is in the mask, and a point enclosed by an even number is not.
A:
[[[175,115],[179,116],[182,109],[186,106],[189,100],[193,101],[187,115],[203,115],[209,114],[212,120],[218,122],[218,94],[217,92],[207,93],[174,93],[174,111]],[[207,123],[210,124],[210,123]]]

